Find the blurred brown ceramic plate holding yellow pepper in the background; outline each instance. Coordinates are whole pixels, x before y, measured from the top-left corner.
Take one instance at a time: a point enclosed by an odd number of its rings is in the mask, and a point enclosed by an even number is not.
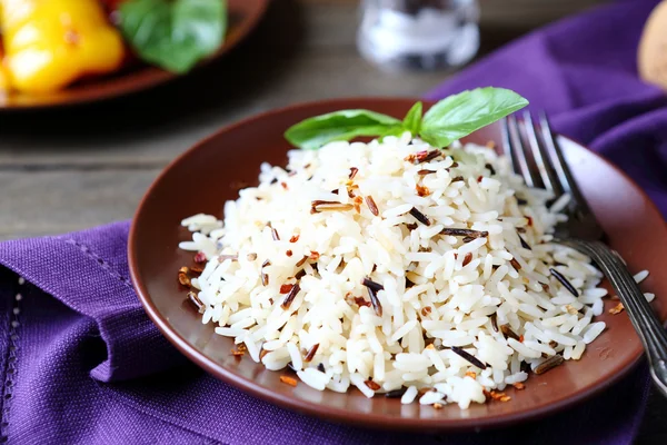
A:
[[[228,0],[228,29],[225,44],[207,59],[219,58],[237,46],[258,23],[269,0]],[[117,73],[74,83],[61,91],[28,95],[12,93],[0,97],[2,109],[36,109],[93,102],[123,96],[171,80],[177,75],[147,65],[123,69]]]

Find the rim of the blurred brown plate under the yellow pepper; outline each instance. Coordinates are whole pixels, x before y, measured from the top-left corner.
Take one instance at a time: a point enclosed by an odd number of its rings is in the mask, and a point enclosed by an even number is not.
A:
[[[246,0],[240,0],[245,2]],[[232,34],[231,39],[226,39],[220,48],[208,58],[201,60],[197,66],[192,68],[191,71],[186,72],[183,75],[177,75],[161,68],[158,68],[153,65],[141,63],[139,68],[133,71],[122,76],[119,76],[118,82],[128,81],[129,78],[135,77],[136,80],[127,86],[121,87],[109,87],[109,89],[104,89],[101,92],[82,92],[73,96],[67,95],[67,88],[60,91],[56,91],[56,93],[64,93],[66,96],[61,99],[54,100],[43,100],[37,102],[27,102],[27,103],[0,103],[0,112],[27,112],[27,111],[41,111],[41,110],[50,110],[50,109],[59,109],[59,108],[68,108],[68,107],[77,107],[77,106],[86,106],[97,102],[103,102],[111,99],[123,98],[127,96],[135,95],[140,91],[153,89],[159,86],[163,86],[169,83],[176,79],[188,76],[190,72],[195,70],[199,70],[207,65],[211,63],[215,60],[220,59],[223,55],[228,53],[232,49],[235,49],[240,42],[242,42],[259,24],[260,20],[265,17],[267,9],[269,7],[271,0],[253,0],[257,4],[250,14],[247,16],[247,19],[241,23],[242,26],[238,29],[237,32]],[[90,83],[91,88],[94,89],[94,81]],[[47,95],[50,96],[51,93]]]

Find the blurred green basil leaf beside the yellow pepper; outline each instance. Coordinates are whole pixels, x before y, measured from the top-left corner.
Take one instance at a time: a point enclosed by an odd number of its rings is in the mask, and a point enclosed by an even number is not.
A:
[[[118,11],[138,56],[177,73],[216,52],[227,28],[225,0],[128,0]]]

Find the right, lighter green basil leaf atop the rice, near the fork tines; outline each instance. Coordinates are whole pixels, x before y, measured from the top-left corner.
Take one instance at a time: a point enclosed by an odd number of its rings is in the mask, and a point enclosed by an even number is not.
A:
[[[528,105],[528,100],[504,88],[478,88],[440,100],[424,116],[420,137],[434,147],[470,135]]]

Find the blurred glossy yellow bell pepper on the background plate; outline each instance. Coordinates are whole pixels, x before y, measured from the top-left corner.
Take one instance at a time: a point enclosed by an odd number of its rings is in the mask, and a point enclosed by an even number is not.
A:
[[[87,75],[117,70],[120,33],[99,0],[0,0],[4,66],[12,88],[61,89]]]

